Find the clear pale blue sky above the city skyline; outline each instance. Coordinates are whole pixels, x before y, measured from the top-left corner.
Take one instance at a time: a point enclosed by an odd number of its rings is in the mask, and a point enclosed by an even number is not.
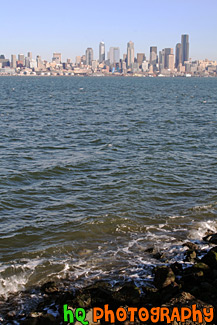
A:
[[[135,53],[150,46],[175,48],[181,34],[190,36],[190,57],[217,60],[217,0],[37,0],[0,1],[0,54],[33,52],[51,60],[84,54],[87,47],[98,59],[104,41],[126,53],[132,40]]]

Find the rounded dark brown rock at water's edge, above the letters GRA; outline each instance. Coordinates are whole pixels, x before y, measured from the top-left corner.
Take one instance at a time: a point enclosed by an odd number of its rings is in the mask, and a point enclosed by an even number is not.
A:
[[[154,269],[154,284],[158,289],[165,288],[169,284],[175,282],[175,274],[171,267],[160,266]]]

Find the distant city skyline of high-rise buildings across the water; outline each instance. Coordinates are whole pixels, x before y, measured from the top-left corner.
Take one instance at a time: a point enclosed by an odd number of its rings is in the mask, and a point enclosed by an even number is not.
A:
[[[0,75],[122,75],[122,76],[216,76],[217,61],[191,60],[188,34],[181,35],[181,43],[173,48],[159,50],[150,46],[149,59],[145,53],[135,53],[134,42],[127,43],[126,53],[120,57],[119,47],[110,47],[105,56],[106,45],[99,43],[98,59],[94,58],[93,48],[88,47],[85,54],[78,55],[73,62],[64,61],[62,53],[54,52],[51,61],[40,55],[33,58],[32,52],[11,54],[11,60],[0,55]]]

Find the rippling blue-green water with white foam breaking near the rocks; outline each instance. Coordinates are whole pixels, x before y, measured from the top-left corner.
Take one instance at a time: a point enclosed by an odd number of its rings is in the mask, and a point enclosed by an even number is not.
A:
[[[0,117],[1,295],[217,230],[217,79],[1,77]]]

